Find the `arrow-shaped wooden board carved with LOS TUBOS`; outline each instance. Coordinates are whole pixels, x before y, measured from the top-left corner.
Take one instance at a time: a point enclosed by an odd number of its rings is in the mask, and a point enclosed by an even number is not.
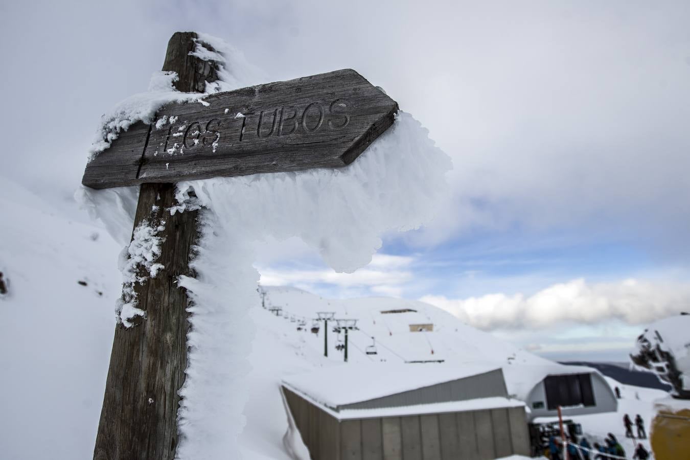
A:
[[[335,168],[391,124],[397,103],[354,70],[173,103],[86,166],[91,188]]]

